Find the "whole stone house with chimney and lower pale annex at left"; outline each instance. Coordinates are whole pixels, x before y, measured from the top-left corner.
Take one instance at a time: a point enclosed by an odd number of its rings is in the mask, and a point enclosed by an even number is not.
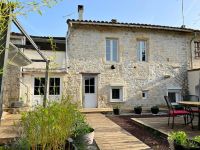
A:
[[[200,31],[185,27],[67,20],[66,38],[32,36],[51,60],[48,99],[69,94],[83,108],[165,104],[188,93],[188,69],[200,68]],[[26,42],[26,45],[29,45]],[[198,48],[197,48],[198,47]],[[41,104],[45,63],[30,48],[32,64],[22,67],[19,98]]]

